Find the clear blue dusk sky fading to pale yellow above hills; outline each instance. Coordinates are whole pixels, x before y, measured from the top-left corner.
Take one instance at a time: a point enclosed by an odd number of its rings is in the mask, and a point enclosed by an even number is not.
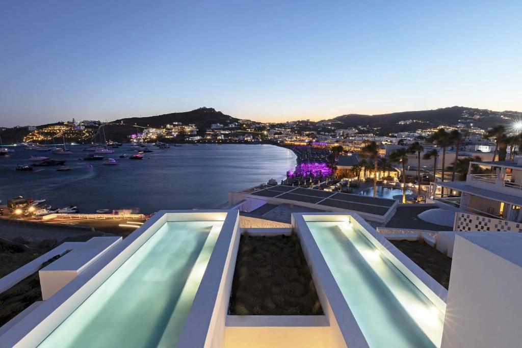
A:
[[[522,1],[0,2],[0,125],[522,111]]]

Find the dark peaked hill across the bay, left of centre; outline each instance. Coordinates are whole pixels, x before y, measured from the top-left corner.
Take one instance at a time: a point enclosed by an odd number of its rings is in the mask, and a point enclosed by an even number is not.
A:
[[[148,116],[148,117],[129,117],[116,119],[113,123],[124,123],[126,125],[138,125],[141,127],[161,127],[173,122],[181,122],[186,124],[195,124],[196,127],[204,130],[210,128],[213,123],[221,123],[227,125],[232,122],[239,122],[239,118],[223,114],[211,107],[200,107],[199,109],[187,112],[174,112],[171,114]]]

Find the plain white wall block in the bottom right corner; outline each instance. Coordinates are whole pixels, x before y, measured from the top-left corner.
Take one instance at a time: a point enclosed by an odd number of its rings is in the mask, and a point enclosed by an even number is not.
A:
[[[441,348],[520,347],[522,235],[455,239]]]

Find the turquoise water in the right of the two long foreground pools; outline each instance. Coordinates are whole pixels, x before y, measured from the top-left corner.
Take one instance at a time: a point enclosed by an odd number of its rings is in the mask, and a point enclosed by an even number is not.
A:
[[[440,347],[444,313],[348,222],[306,222],[372,348]]]

